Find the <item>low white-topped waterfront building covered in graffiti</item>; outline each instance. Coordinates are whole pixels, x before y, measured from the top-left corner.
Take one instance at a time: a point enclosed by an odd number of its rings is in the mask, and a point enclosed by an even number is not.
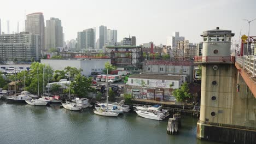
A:
[[[174,101],[173,89],[180,88],[182,76],[140,74],[131,75],[126,85],[126,93],[135,99]]]

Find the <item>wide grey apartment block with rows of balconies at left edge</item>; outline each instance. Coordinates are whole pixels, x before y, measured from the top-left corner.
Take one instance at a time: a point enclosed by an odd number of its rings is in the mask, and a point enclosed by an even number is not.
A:
[[[19,34],[0,35],[0,61],[30,61],[33,57],[36,61],[40,56],[39,35],[21,32]]]

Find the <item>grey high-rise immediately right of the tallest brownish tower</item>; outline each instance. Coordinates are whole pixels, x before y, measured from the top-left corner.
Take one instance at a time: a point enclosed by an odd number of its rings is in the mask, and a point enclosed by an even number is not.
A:
[[[50,20],[46,20],[45,50],[56,47],[63,47],[63,28],[61,20],[51,17]]]

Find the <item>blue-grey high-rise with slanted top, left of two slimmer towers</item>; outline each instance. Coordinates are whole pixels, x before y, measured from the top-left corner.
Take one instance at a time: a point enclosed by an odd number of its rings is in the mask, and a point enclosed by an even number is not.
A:
[[[83,49],[94,49],[95,36],[94,28],[85,29],[83,32],[77,33],[77,48]]]

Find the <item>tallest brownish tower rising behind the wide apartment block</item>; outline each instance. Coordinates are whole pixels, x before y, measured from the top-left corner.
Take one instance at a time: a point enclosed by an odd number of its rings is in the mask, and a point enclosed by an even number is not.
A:
[[[38,34],[40,36],[40,51],[44,49],[44,16],[43,13],[32,13],[27,15],[26,32]]]

